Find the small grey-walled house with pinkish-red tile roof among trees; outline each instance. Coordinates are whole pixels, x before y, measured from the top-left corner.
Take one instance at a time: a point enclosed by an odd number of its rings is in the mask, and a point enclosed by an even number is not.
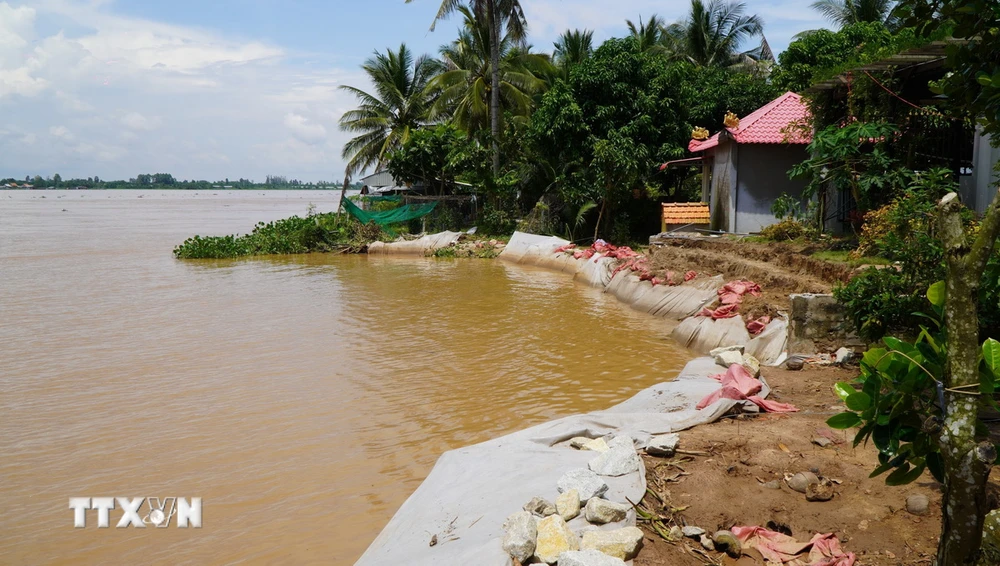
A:
[[[806,159],[810,141],[809,109],[794,92],[707,139],[692,139],[688,149],[701,154],[702,199],[709,203],[712,229],[750,233],[777,222],[774,199],[802,194],[805,183],[790,180],[788,170]]]

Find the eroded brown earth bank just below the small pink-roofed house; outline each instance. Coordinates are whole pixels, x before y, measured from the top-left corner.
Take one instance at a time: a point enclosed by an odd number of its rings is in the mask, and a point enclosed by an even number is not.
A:
[[[762,301],[744,305],[751,317],[788,309],[791,293],[829,293],[847,281],[852,268],[810,257],[818,245],[756,243],[729,238],[668,238],[650,248],[650,266],[663,276],[668,270],[695,270],[703,276],[722,274],[727,281],[749,279],[763,289]]]

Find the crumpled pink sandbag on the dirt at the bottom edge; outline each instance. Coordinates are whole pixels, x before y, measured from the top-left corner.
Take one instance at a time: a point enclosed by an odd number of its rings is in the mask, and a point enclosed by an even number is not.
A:
[[[809,542],[769,531],[763,527],[733,527],[745,548],[756,548],[768,562],[788,566],[854,566],[853,552],[844,552],[833,533],[817,533]],[[808,554],[803,555],[806,551]]]

